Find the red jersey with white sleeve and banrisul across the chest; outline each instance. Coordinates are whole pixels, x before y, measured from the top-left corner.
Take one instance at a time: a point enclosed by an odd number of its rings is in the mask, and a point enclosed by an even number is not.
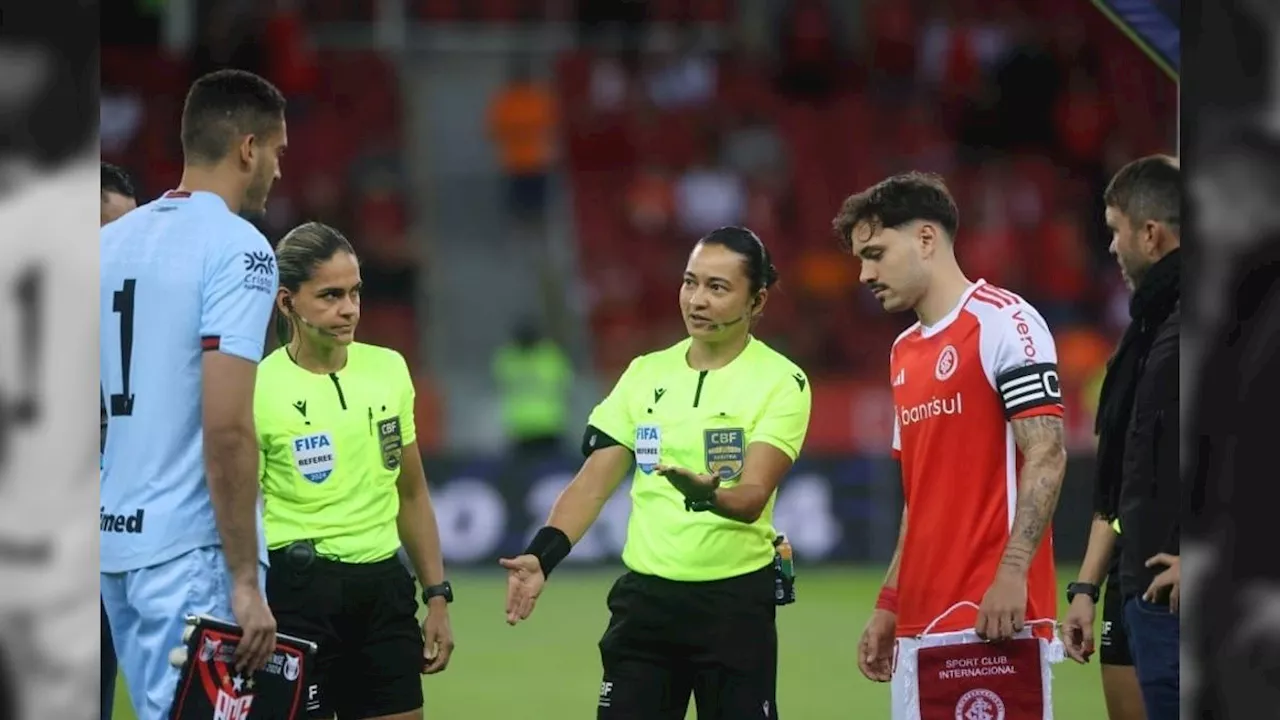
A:
[[[890,377],[908,507],[897,584],[897,634],[906,637],[956,602],[982,602],[1018,506],[1021,454],[1011,421],[1061,416],[1062,392],[1044,319],[984,281],[937,324],[899,336]],[[1057,615],[1051,536],[1047,528],[1028,573],[1028,619]],[[933,632],[974,621],[961,609]]]

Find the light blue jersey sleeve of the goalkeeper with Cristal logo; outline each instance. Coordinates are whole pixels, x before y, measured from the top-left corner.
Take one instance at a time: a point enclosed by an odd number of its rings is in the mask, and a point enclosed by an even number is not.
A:
[[[210,245],[205,261],[200,342],[206,351],[257,363],[279,283],[275,255],[256,231],[229,229],[225,242]]]

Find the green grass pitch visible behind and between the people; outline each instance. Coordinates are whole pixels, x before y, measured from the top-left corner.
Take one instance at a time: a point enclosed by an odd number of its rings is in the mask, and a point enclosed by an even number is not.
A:
[[[888,685],[858,671],[855,651],[883,569],[800,568],[799,601],[778,610],[778,708],[788,720],[887,719]],[[561,570],[538,610],[515,628],[503,620],[500,573],[452,573],[458,643],[449,669],[425,678],[430,720],[590,720],[600,683],[595,643],[604,596],[617,570]],[[1074,570],[1073,570],[1074,577]],[[1065,588],[1069,580],[1060,578]],[[134,720],[123,683],[115,720]],[[1102,720],[1097,662],[1055,666],[1055,717]],[[689,719],[695,717],[692,710]]]

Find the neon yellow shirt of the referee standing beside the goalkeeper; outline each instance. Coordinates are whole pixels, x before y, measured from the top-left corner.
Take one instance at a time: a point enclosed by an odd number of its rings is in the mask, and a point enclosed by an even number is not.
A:
[[[416,433],[413,382],[398,352],[352,343],[340,372],[320,374],[282,347],[259,365],[253,420],[269,548],[311,539],[343,562],[399,550],[396,483]]]

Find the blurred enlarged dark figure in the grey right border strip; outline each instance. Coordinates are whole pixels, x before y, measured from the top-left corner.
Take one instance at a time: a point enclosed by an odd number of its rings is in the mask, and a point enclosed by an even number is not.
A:
[[[1204,314],[1183,503],[1188,541],[1208,556],[1203,577],[1189,579],[1203,667],[1188,705],[1213,719],[1280,708],[1280,565],[1257,559],[1275,543],[1280,505],[1280,486],[1258,475],[1275,465],[1270,418],[1280,405],[1280,138],[1253,124],[1233,129],[1197,152],[1189,186],[1206,238],[1198,265],[1226,268],[1197,293],[1222,300]]]

